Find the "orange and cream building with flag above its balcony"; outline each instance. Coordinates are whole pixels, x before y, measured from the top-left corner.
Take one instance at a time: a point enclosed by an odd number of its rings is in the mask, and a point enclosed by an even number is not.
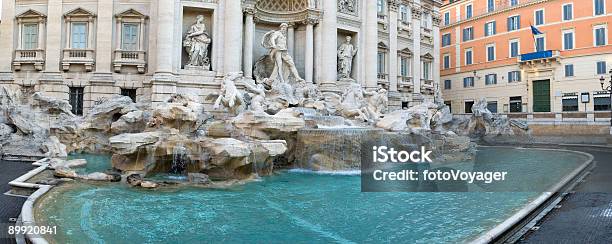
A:
[[[498,113],[610,111],[600,78],[612,68],[611,0],[444,1],[440,14],[440,82],[454,113],[481,98]]]

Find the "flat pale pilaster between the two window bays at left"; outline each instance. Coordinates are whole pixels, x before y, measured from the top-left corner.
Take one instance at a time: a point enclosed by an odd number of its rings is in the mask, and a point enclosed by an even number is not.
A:
[[[113,1],[98,0],[98,24],[96,35],[96,73],[110,74],[113,54]],[[121,35],[121,33],[116,33]]]

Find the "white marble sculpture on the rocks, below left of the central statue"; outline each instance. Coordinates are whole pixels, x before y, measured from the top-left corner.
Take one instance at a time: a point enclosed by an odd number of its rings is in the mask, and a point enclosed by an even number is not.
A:
[[[221,93],[219,97],[217,97],[213,109],[217,110],[223,105],[231,113],[238,114],[246,105],[242,93],[236,88],[236,80],[239,78],[241,78],[241,74],[238,72],[232,72],[225,75],[221,83]]]

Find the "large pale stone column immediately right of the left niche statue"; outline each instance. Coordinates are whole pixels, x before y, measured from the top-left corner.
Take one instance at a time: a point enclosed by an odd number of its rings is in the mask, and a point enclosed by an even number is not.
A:
[[[224,1],[224,32],[225,41],[223,51],[225,73],[241,72],[242,56],[242,1]]]

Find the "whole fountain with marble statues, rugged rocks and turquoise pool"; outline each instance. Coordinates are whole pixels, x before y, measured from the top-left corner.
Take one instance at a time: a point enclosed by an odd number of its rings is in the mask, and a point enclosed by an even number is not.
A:
[[[537,196],[360,193],[355,175],[366,141],[424,146],[439,164],[472,162],[513,153],[480,150],[474,140],[527,139],[529,128],[493,115],[486,101],[474,105],[472,116],[454,118],[438,89],[431,101],[388,111],[383,86],[364,89],[348,75],[360,52],[350,37],[338,47],[338,80],[345,85],[339,93],[322,92],[296,70],[286,28],[263,36],[268,52],[254,65],[255,80],[228,73],[219,92],[206,98],[175,94],[151,104],[114,96],[77,116],[64,100],[3,87],[3,155],[44,158],[29,182],[55,186],[24,223],[55,225],[60,234],[27,238],[457,242],[480,236]],[[209,68],[210,43],[199,16],[183,40],[188,69]],[[214,101],[215,113],[203,99]],[[521,154],[530,156],[523,163],[543,170],[551,158],[582,160],[561,152]]]

